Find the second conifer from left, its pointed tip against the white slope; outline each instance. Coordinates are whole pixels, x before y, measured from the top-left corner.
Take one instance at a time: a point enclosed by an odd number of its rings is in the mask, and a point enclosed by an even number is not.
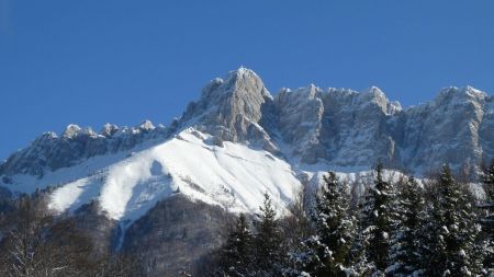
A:
[[[281,229],[276,218],[271,198],[266,193],[260,208],[261,215],[256,220],[254,236],[254,258],[256,276],[280,276],[282,272],[283,251]]]

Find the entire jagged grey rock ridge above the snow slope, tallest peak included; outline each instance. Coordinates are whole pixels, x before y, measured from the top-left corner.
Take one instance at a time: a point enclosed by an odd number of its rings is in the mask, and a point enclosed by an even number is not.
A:
[[[474,168],[494,155],[493,96],[471,86],[447,88],[422,105],[402,108],[378,88],[363,92],[313,84],[270,95],[262,80],[240,68],[212,80],[170,128],[105,125],[99,132],[70,125],[46,132],[0,164],[0,175],[43,175],[83,159],[128,150],[184,128],[222,141],[247,143],[301,164],[369,168],[378,160],[415,174]],[[465,163],[465,164],[464,164]]]

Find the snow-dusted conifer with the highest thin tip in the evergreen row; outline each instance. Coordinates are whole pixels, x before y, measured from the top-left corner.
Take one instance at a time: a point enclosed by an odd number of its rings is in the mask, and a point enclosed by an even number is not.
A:
[[[379,163],[375,166],[374,186],[369,187],[366,195],[361,220],[361,246],[363,257],[373,267],[372,275],[383,275],[389,263],[389,253],[391,251],[391,227],[393,223],[393,186],[383,180],[383,165]]]

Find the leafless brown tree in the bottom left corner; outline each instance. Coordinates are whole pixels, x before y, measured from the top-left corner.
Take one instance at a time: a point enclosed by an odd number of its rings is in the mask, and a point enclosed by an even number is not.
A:
[[[55,219],[41,197],[21,196],[2,241],[5,276],[80,276],[89,267],[92,244],[74,220]]]

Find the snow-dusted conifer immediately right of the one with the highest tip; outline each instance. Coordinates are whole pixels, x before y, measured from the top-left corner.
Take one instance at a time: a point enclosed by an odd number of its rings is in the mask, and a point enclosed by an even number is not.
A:
[[[422,234],[426,211],[423,189],[409,177],[404,182],[397,197],[396,221],[393,226],[390,258],[392,267],[388,270],[393,276],[409,276],[422,272],[423,256]]]

